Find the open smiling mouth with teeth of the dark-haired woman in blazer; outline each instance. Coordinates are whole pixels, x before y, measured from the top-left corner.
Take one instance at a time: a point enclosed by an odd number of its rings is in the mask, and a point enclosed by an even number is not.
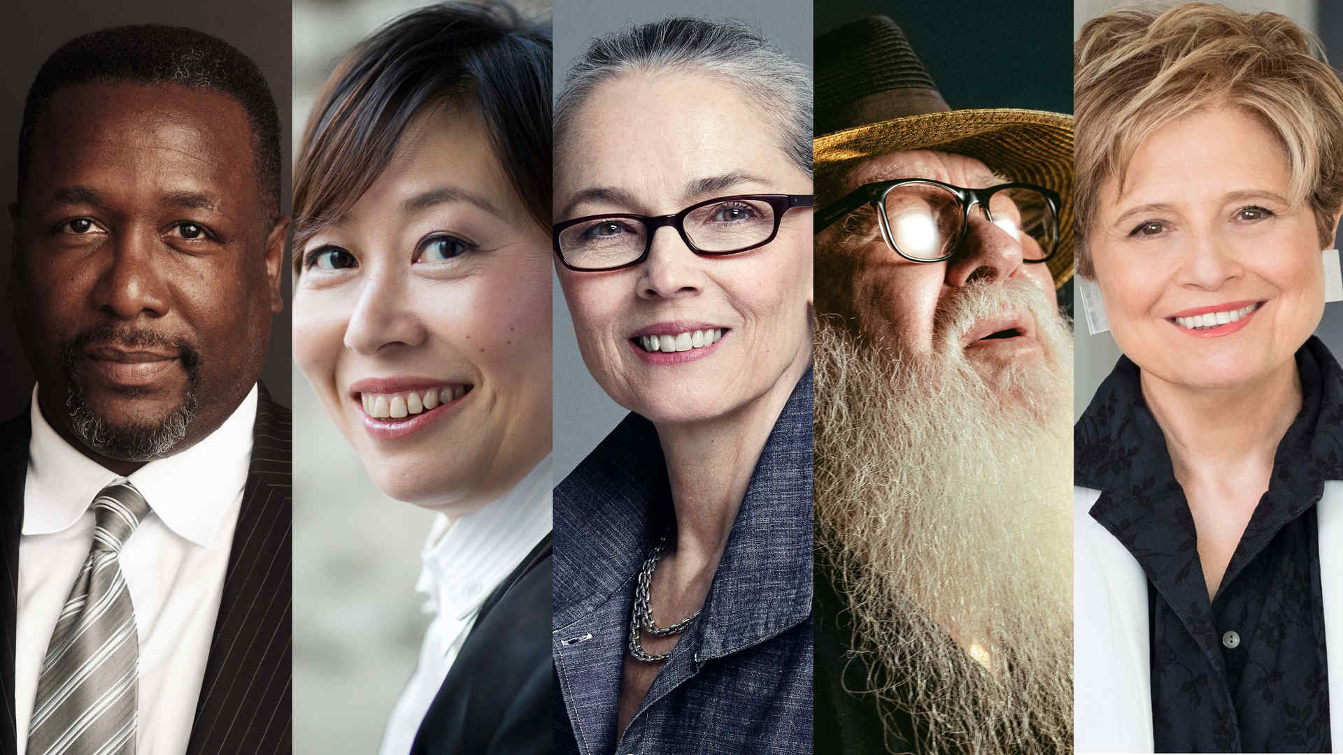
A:
[[[474,386],[434,378],[371,378],[351,384],[364,430],[380,439],[404,438],[446,416]]]

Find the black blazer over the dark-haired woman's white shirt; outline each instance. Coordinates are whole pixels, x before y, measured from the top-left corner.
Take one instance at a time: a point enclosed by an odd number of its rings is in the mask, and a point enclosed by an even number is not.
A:
[[[411,755],[553,752],[551,536],[485,599]]]

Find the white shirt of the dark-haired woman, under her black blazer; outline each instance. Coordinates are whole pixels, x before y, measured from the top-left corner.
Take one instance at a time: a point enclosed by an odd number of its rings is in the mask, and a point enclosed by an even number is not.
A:
[[[380,755],[406,755],[420,721],[447,678],[485,599],[551,531],[553,462],[545,457],[504,497],[455,523],[434,519],[415,588],[428,599],[434,621],[424,633],[419,665],[383,732]],[[526,627],[522,627],[526,629]],[[530,627],[549,631],[549,627]]]

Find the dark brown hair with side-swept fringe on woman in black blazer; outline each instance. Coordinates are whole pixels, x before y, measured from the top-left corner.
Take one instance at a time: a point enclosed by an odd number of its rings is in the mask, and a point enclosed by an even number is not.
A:
[[[336,66],[309,116],[294,249],[373,185],[416,114],[453,101],[479,110],[513,189],[549,228],[552,71],[549,26],[504,3],[430,5],[375,31]]]

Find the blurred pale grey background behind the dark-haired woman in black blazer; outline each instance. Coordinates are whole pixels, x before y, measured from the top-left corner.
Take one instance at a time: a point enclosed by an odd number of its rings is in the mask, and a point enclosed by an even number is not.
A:
[[[332,67],[414,0],[294,3],[297,154]],[[548,0],[514,1],[549,17]],[[286,40],[287,44],[287,40]],[[415,591],[434,515],[383,496],[308,379],[294,394],[294,752],[376,752],[419,657],[428,615]]]

